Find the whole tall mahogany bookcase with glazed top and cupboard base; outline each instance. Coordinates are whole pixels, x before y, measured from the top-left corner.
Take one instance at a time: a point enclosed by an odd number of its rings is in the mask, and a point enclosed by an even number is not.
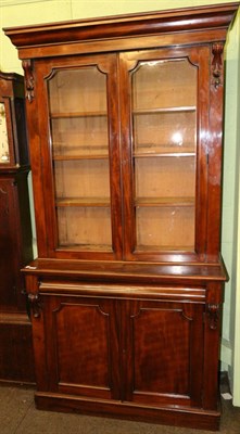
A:
[[[7,28],[25,71],[38,408],[217,430],[238,3]]]

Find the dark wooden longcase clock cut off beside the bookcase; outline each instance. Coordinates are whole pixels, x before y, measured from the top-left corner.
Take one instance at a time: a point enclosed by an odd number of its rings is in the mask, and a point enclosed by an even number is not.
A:
[[[0,72],[0,381],[34,383],[21,268],[33,260],[24,79]]]

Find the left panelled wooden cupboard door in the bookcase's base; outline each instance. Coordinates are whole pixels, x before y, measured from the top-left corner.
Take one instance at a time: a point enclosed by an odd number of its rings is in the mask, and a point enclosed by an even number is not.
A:
[[[65,295],[43,295],[41,301],[42,327],[48,330],[48,388],[117,399],[119,363],[114,302]]]

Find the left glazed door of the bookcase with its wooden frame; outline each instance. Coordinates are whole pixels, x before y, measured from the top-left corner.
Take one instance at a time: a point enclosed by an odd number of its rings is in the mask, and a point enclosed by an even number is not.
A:
[[[122,256],[116,56],[39,62],[37,101],[46,225],[40,253]],[[45,110],[48,107],[48,110]],[[37,157],[37,148],[34,149]],[[34,174],[39,179],[39,174]],[[35,182],[37,184],[37,182]],[[37,204],[37,218],[40,204]],[[41,230],[42,225],[38,225]],[[43,243],[42,241],[43,240]],[[41,246],[42,243],[42,246]]]

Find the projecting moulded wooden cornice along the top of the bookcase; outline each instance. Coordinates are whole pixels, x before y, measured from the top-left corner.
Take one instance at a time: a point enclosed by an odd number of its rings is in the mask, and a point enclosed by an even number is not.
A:
[[[43,47],[70,43],[72,41],[92,41],[101,38],[138,37],[146,33],[152,35],[174,34],[207,29],[227,29],[239,2],[207,7],[184,8],[179,10],[147,12],[141,14],[106,16],[4,28],[17,48]]]

